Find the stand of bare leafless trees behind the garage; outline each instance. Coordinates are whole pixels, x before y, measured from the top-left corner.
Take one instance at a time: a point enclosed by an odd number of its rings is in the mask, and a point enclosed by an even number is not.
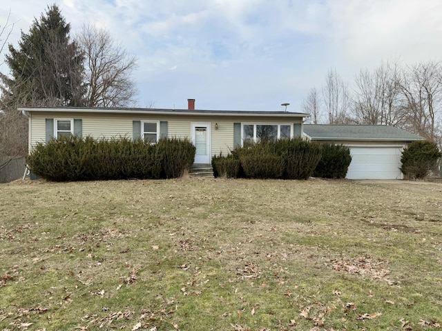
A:
[[[313,113],[315,109],[314,91],[302,103],[304,112]],[[322,90],[329,124],[396,126],[430,139],[442,148],[441,61],[405,67],[399,66],[397,59],[381,62],[372,72],[365,69],[356,74],[353,91],[351,97],[336,70],[329,70]]]

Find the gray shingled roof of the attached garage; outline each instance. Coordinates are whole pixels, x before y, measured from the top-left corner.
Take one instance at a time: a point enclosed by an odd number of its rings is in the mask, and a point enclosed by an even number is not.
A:
[[[394,126],[334,126],[305,124],[304,133],[311,140],[414,141],[423,137]]]

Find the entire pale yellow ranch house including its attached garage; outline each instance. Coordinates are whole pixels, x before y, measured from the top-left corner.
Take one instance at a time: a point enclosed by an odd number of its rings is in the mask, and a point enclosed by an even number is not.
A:
[[[402,179],[401,152],[423,139],[392,126],[332,126],[303,124],[309,114],[155,108],[19,108],[29,117],[29,150],[37,142],[63,134],[81,137],[140,137],[155,142],[161,137],[190,139],[196,147],[194,163],[211,163],[214,155],[229,154],[243,141],[262,137],[305,137],[312,141],[349,146],[349,179]]]

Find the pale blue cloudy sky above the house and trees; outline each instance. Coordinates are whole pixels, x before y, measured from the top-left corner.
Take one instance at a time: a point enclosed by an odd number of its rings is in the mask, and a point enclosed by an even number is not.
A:
[[[441,0],[7,2],[0,26],[10,11],[15,45],[51,3],[73,35],[83,23],[106,28],[138,58],[140,107],[180,109],[196,99],[204,110],[283,110],[287,102],[299,112],[329,69],[351,82],[381,61],[442,56]],[[0,70],[8,72],[6,64]]]

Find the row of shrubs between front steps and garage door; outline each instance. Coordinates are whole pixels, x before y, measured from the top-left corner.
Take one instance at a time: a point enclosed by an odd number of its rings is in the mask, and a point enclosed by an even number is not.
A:
[[[244,144],[227,156],[212,158],[215,177],[257,179],[345,178],[349,148],[301,138]]]

